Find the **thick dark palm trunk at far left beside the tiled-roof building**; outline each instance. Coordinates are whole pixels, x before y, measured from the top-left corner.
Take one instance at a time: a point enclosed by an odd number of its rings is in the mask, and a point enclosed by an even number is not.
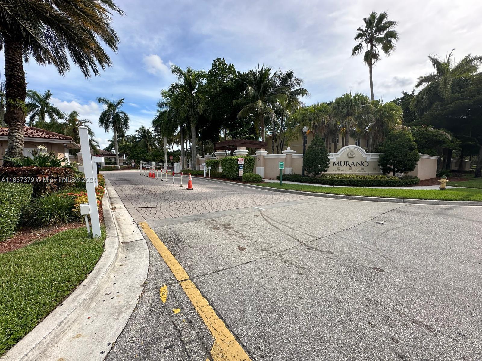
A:
[[[25,127],[25,97],[27,84],[23,64],[22,42],[13,37],[4,36],[5,54],[5,99],[7,110],[5,123],[9,126],[8,151],[5,155],[23,157]]]

